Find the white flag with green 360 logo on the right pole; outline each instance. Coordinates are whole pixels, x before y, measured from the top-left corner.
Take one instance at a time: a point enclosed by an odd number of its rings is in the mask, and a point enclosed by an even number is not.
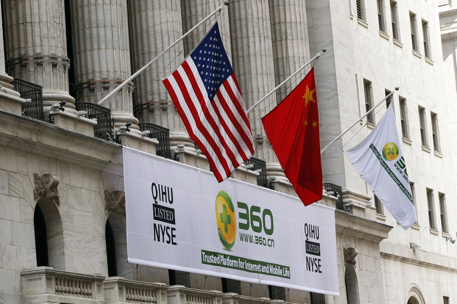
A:
[[[392,105],[370,135],[345,153],[397,222],[411,227],[417,216]]]

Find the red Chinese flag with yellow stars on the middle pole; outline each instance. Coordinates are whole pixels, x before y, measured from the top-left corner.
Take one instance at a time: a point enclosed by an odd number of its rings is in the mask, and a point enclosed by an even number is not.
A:
[[[265,132],[305,206],[322,199],[319,116],[314,68],[270,113],[262,118]]]

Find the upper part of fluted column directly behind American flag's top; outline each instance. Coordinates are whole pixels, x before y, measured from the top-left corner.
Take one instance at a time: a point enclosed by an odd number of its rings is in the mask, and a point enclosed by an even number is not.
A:
[[[218,7],[224,4],[224,0],[181,0],[182,27],[183,32],[187,32],[195,24],[199,23]],[[205,34],[216,22],[219,22],[219,31],[224,44],[225,52],[232,60],[232,50],[230,47],[230,26],[228,25],[228,8],[224,7],[220,15],[215,15],[210,20],[202,24],[198,29],[193,30],[184,38],[184,54],[187,56],[190,51],[203,39]]]

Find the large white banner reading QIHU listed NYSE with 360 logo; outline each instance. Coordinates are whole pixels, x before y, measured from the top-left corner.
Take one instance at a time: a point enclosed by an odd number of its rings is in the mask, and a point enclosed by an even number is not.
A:
[[[333,208],[122,150],[129,262],[339,295]]]

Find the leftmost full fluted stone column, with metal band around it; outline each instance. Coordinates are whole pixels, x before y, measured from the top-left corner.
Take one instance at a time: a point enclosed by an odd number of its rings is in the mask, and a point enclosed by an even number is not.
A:
[[[43,106],[67,101],[69,94],[67,40],[63,1],[9,0],[3,5],[8,73],[43,86]]]

